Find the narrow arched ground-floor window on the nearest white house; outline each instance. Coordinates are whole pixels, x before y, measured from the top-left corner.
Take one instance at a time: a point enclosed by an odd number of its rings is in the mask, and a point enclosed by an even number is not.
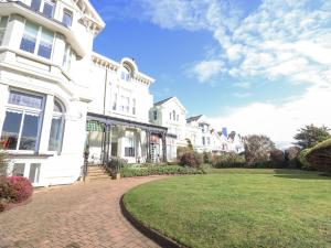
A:
[[[58,154],[62,150],[62,139],[64,131],[65,108],[62,103],[54,99],[52,127],[50,132],[49,151],[56,151]]]

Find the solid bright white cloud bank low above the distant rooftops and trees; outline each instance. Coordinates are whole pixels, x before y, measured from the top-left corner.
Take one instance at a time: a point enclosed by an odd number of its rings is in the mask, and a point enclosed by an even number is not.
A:
[[[242,134],[268,134],[276,142],[292,141],[297,130],[306,125],[330,126],[330,96],[331,87],[313,86],[303,96],[280,106],[257,101],[210,120],[218,130],[227,127]]]

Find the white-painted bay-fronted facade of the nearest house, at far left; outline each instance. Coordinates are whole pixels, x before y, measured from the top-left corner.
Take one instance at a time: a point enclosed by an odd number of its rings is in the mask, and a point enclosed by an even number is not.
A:
[[[82,72],[105,23],[88,1],[75,2],[0,2],[1,143],[12,158],[9,173],[34,186],[81,176],[93,100]]]

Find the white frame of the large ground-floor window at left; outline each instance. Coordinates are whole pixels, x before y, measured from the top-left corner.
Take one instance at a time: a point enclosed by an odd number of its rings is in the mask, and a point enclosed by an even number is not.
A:
[[[40,147],[40,140],[41,140],[41,131],[42,131],[42,120],[44,118],[44,107],[45,107],[45,96],[40,95],[40,94],[34,94],[34,93],[30,93],[30,91],[24,91],[21,89],[10,89],[10,91],[17,91],[17,93],[22,93],[22,94],[29,94],[32,96],[38,96],[38,97],[42,97],[42,107],[41,109],[35,109],[35,108],[31,108],[31,107],[25,107],[25,106],[20,106],[20,105],[13,105],[8,103],[9,98],[7,100],[7,105],[6,105],[6,110],[7,111],[12,111],[12,112],[18,112],[22,115],[21,118],[21,123],[20,123],[20,130],[19,130],[19,137],[18,137],[18,143],[17,143],[17,149],[14,150],[7,150],[9,152],[17,152],[17,153],[34,153],[39,150]],[[10,91],[9,91],[9,96],[10,96]],[[23,123],[24,123],[24,119],[25,119],[25,115],[38,115],[39,116],[39,123],[38,123],[38,134],[36,134],[36,142],[35,142],[35,147],[34,150],[20,150],[20,143],[21,143],[21,137],[22,137],[22,131],[23,131]],[[2,126],[3,129],[3,126]],[[1,130],[1,134],[2,134],[2,130]]]

